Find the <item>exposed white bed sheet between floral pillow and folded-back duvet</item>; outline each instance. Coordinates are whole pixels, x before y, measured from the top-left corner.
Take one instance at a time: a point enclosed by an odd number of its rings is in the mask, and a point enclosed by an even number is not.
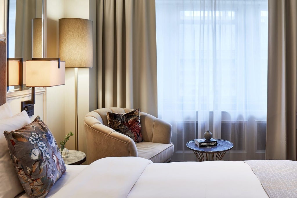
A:
[[[58,181],[53,185],[53,187],[50,189],[50,192],[46,196],[52,197],[53,194],[55,194],[57,191],[59,191],[64,185],[69,183],[73,178],[75,178],[82,170],[84,170],[88,165],[67,165],[66,164],[66,172],[62,175],[61,178],[59,178]],[[23,192],[16,196],[15,198],[28,198],[29,196]]]

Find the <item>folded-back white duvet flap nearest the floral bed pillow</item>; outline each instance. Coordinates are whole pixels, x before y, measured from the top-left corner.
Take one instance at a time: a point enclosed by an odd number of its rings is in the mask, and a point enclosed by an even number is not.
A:
[[[127,197],[151,160],[140,157],[107,157],[94,161],[53,197]],[[138,196],[139,197],[139,196]]]

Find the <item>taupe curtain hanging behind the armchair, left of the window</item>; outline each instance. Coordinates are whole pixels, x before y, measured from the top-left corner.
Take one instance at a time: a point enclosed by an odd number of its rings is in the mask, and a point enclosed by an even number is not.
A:
[[[155,1],[97,0],[98,107],[157,116]]]

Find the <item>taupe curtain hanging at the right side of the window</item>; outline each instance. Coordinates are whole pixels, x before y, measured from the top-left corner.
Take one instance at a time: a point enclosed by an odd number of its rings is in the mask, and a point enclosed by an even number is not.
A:
[[[266,159],[296,160],[297,1],[268,1]]]

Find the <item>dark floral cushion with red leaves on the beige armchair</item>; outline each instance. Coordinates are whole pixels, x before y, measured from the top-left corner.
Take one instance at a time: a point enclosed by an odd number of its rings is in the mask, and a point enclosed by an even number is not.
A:
[[[131,137],[135,143],[142,142],[139,109],[125,114],[106,112],[106,115],[108,127],[112,128],[116,132]]]

